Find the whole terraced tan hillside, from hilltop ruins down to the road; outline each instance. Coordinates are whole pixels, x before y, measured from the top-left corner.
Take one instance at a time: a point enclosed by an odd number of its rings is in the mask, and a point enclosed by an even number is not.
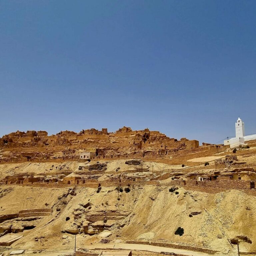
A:
[[[121,242],[233,255],[238,240],[256,251],[256,140],[241,134],[225,145],[129,127],[4,135],[0,248],[69,249],[77,235],[86,256]]]

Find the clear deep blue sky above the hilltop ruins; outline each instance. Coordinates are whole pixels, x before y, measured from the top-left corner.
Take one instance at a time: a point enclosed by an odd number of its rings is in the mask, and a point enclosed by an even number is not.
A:
[[[256,133],[256,1],[0,1],[0,136]]]

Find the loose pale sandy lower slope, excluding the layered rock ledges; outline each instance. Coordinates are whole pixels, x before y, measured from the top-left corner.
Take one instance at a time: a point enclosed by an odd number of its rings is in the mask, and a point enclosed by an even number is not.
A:
[[[74,223],[83,226],[88,214],[94,213],[104,217],[112,212],[116,216],[128,213],[127,217],[117,221],[112,227],[112,235],[108,238],[112,242],[143,238],[148,241],[205,246],[213,249],[224,247],[221,250],[227,252],[231,249],[228,239],[247,236],[252,240],[252,244],[241,242],[241,251],[256,250],[253,226],[256,221],[256,198],[247,196],[242,191],[231,190],[214,195],[179,188],[179,194],[176,195],[169,192],[169,188],[165,186],[135,186],[131,187],[129,193],[118,192],[115,187],[102,188],[100,193],[96,193],[96,189],[77,188],[76,195],[69,195],[67,203],[62,205],[58,214],[56,204],[62,192],[67,192],[67,189],[64,191],[15,187],[0,198],[0,205],[5,208],[5,212],[42,207],[46,200],[49,202],[48,207],[53,206],[51,216],[45,216],[36,228],[24,231],[22,234],[25,236],[13,246],[70,249],[74,243],[74,235],[68,234],[69,239],[63,239],[62,230]],[[15,196],[24,202],[15,204]],[[34,200],[27,197],[34,197]],[[81,218],[75,220],[74,213],[83,210],[81,204],[88,202],[91,203],[91,209],[85,209]],[[250,207],[250,210],[246,210],[246,207]],[[189,214],[195,211],[201,213],[189,217]],[[66,217],[70,217],[70,220],[66,221]],[[179,226],[184,228],[183,236],[174,234]],[[222,239],[217,238],[219,234],[222,235]],[[36,236],[45,238],[41,242],[35,242],[33,238]],[[77,235],[77,245],[80,247],[100,240],[99,235]]]

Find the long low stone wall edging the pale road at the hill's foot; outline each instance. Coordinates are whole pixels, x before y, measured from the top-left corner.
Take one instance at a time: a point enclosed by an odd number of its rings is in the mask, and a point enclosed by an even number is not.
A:
[[[208,254],[215,254],[217,251],[206,249],[206,248],[199,248],[187,245],[179,245],[179,244],[167,244],[167,243],[158,243],[158,242],[143,242],[143,241],[127,241],[127,244],[146,244],[146,245],[153,245],[153,246],[160,246],[166,248],[173,248],[173,249],[180,249],[180,250],[188,250],[188,251],[195,251],[195,252],[204,252]]]

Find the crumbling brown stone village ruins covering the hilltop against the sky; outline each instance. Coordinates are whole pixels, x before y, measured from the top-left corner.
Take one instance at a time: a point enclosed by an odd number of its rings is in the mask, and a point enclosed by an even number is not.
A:
[[[61,131],[51,136],[46,131],[17,131],[3,136],[0,146],[4,149],[2,163],[79,160],[82,153],[87,154],[87,159],[165,158],[184,149],[197,149],[199,141],[186,138],[178,141],[157,131],[132,131],[123,127],[115,133],[108,133],[106,128],[101,131],[92,128],[79,133]]]

